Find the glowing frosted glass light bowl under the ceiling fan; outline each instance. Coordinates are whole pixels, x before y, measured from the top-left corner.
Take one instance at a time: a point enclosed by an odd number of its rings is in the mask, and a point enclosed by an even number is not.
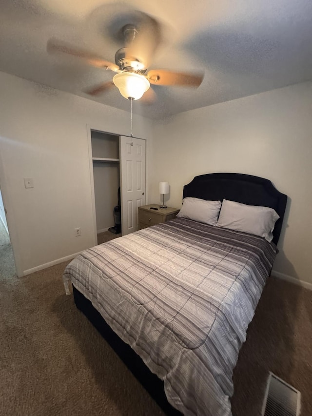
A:
[[[140,99],[150,88],[149,81],[134,72],[120,72],[114,76],[113,82],[126,99]]]

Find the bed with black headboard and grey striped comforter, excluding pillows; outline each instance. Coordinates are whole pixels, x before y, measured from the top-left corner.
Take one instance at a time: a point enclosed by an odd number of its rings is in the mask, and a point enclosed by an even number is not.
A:
[[[273,240],[180,217],[86,250],[64,285],[167,415],[227,416],[287,196],[268,179],[215,173],[185,185],[186,198],[272,208]]]

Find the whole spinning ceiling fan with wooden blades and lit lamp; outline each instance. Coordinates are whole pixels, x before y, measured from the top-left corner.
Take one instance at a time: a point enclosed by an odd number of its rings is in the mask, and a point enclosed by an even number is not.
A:
[[[117,50],[115,63],[54,38],[48,40],[47,51],[69,54],[84,59],[92,66],[116,72],[112,80],[85,91],[91,96],[105,93],[116,85],[126,99],[140,99],[145,93],[143,99],[153,101],[154,91],[149,89],[150,84],[198,87],[203,79],[202,74],[164,69],[151,69],[146,72],[161,41],[160,25],[152,17],[139,13],[140,19],[135,19],[135,23],[123,24],[117,31],[116,38],[123,40],[124,47]]]

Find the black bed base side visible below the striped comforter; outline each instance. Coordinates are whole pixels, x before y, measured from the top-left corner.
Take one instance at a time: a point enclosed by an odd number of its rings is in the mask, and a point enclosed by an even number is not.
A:
[[[89,319],[101,336],[109,343],[118,357],[129,368],[150,396],[153,397],[163,412],[168,416],[181,416],[182,414],[168,402],[163,381],[149,370],[130,345],[123,342],[115,334],[100,313],[93,307],[90,300],[84,297],[75,286],[73,286],[73,294],[77,308]]]

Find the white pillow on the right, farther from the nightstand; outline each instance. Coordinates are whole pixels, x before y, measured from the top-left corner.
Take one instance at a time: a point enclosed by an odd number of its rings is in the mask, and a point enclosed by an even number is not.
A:
[[[254,234],[271,242],[274,224],[278,218],[273,208],[245,205],[223,199],[217,226]]]

